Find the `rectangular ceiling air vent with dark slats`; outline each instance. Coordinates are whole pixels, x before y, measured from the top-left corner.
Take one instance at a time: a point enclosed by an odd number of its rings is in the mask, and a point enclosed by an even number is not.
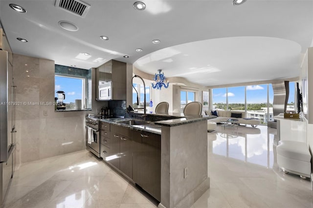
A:
[[[55,6],[82,18],[85,18],[90,8],[89,4],[81,0],[56,0]]]

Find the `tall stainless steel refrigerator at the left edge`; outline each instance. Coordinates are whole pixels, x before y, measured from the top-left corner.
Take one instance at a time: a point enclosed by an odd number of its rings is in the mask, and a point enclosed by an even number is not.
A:
[[[2,37],[1,29],[0,35]],[[8,52],[0,50],[0,207],[15,169],[15,86]]]

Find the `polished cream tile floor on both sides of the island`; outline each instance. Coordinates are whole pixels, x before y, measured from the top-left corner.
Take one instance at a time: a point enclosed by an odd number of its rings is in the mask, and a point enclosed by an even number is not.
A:
[[[276,129],[239,126],[208,133],[210,189],[192,208],[313,208],[310,180],[279,170]],[[154,208],[88,151],[19,166],[4,208]]]

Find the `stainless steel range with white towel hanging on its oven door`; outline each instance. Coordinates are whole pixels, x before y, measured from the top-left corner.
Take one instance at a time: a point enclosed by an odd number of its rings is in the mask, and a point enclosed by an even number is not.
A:
[[[86,149],[101,158],[99,125],[100,119],[86,117]]]

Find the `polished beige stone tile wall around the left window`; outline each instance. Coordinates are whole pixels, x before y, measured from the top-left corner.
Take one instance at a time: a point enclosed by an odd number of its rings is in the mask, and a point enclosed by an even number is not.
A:
[[[55,112],[54,61],[14,54],[17,164],[85,149],[85,116],[92,111]],[[38,104],[39,103],[39,104]],[[44,115],[44,111],[46,115]]]

